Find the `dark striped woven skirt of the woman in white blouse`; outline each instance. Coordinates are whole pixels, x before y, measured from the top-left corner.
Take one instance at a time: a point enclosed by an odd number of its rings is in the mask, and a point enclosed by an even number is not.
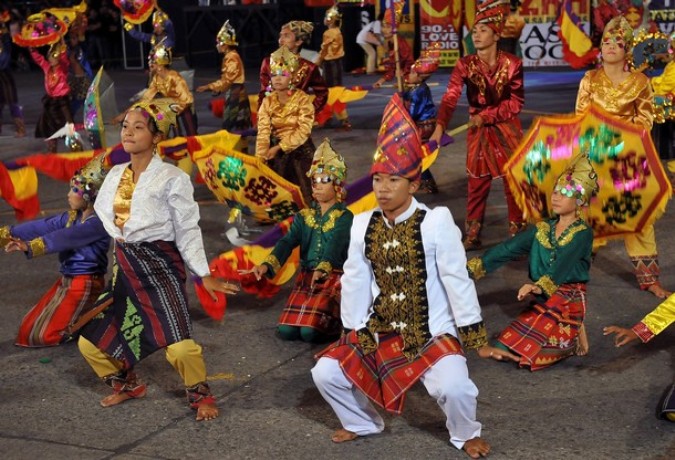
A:
[[[125,369],[189,339],[185,280],[185,264],[173,241],[116,243],[113,279],[97,301],[112,296],[113,303],[83,328],[82,336]]]

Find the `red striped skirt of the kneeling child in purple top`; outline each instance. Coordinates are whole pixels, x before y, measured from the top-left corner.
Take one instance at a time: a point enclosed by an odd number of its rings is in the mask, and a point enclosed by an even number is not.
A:
[[[102,275],[61,277],[23,317],[15,344],[21,347],[60,344],[64,330],[94,306],[103,287]]]

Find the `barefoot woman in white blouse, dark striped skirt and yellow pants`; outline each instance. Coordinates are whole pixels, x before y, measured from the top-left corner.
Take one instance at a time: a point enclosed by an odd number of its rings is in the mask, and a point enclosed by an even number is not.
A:
[[[78,346],[113,389],[102,406],[145,396],[134,365],[164,348],[197,420],[210,420],[218,408],[206,383],[202,348],[191,338],[186,265],[214,299],[216,291],[233,294],[237,288],[210,276],[190,177],[155,154],[175,125],[171,109],[168,100],[142,102],[122,123],[122,145],[131,162],[110,170],[95,207],[115,240],[111,284],[98,300],[111,304],[85,326]]]

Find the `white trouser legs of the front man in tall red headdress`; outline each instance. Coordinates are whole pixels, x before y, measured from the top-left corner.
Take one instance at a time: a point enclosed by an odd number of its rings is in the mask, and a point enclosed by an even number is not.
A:
[[[345,376],[336,359],[320,358],[312,369],[312,378],[345,430],[359,436],[382,432],[382,417]],[[445,426],[455,447],[461,449],[466,441],[480,436],[481,424],[476,421],[478,388],[469,378],[464,356],[444,356],[420,380],[445,414]]]

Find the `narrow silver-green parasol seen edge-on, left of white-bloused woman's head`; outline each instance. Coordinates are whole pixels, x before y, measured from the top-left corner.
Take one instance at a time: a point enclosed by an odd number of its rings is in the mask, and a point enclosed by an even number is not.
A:
[[[89,133],[89,140],[95,149],[105,148],[108,144],[105,120],[112,120],[117,113],[115,83],[101,67],[89,85],[83,110],[84,128]],[[115,135],[117,137],[117,133]]]

